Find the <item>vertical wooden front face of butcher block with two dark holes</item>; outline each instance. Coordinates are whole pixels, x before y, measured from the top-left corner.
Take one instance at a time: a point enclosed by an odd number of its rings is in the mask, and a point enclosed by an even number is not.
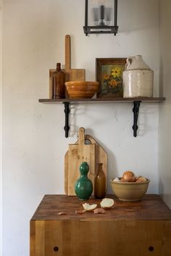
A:
[[[170,220],[31,220],[30,256],[170,256]]]

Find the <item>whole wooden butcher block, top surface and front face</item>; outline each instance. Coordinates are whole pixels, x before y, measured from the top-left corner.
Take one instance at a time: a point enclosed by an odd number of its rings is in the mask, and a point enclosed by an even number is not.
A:
[[[171,256],[171,210],[161,197],[107,197],[115,205],[105,214],[76,214],[84,202],[101,200],[45,195],[30,220],[30,256]]]

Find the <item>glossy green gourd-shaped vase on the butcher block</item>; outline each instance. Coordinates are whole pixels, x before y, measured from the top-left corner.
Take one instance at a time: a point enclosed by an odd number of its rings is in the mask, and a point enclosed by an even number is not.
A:
[[[81,199],[86,200],[91,197],[93,192],[93,183],[88,178],[89,166],[87,162],[80,165],[80,178],[75,182],[75,194]]]

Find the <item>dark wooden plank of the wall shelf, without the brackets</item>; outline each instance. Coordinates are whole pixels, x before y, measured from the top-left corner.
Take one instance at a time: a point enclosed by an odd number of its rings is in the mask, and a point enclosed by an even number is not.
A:
[[[97,98],[97,99],[38,99],[38,102],[41,103],[127,103],[127,102],[164,102],[165,97],[138,97],[138,98]]]

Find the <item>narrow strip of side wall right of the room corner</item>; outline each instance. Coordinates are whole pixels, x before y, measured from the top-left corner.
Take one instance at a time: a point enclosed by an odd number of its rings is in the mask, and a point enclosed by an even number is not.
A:
[[[159,193],[171,208],[171,1],[160,1],[160,9],[160,80],[166,102],[159,108]]]

